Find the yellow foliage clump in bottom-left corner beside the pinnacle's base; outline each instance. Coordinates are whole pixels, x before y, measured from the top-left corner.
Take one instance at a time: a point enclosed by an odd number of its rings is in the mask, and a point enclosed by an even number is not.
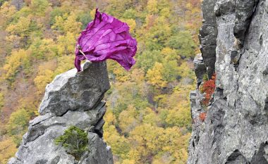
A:
[[[8,163],[8,159],[15,156],[16,151],[16,144],[13,143],[11,138],[0,141],[0,164]]]

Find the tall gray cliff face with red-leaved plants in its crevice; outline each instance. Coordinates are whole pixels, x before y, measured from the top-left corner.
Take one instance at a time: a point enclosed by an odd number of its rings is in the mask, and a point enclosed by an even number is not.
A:
[[[267,164],[268,0],[204,0],[202,11],[195,72],[200,84],[215,65],[217,80],[207,109],[198,89],[190,94],[188,164]]]

